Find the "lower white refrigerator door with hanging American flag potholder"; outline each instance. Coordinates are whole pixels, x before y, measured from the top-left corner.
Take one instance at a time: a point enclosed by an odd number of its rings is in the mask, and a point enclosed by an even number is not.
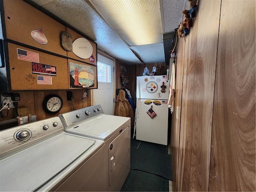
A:
[[[167,145],[167,100],[137,99],[136,105],[136,139]],[[156,114],[153,118],[147,113],[150,108]]]

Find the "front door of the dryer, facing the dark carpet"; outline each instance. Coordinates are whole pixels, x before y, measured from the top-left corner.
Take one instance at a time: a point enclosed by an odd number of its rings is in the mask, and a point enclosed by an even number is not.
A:
[[[118,177],[130,157],[129,126],[125,130],[124,128],[120,129],[120,134],[108,146],[109,186]]]

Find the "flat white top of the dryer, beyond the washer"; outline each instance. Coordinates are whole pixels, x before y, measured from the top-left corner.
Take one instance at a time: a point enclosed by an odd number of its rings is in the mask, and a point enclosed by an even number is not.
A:
[[[65,131],[106,141],[129,120],[128,117],[102,114]]]

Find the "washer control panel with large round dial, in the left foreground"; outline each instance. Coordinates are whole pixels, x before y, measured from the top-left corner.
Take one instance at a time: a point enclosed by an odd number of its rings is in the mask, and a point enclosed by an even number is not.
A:
[[[0,131],[0,154],[63,132],[59,117],[48,118]],[[48,138],[48,137],[47,137]]]

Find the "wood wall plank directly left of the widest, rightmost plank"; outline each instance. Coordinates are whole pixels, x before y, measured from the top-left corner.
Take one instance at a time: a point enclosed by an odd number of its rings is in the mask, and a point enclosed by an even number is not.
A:
[[[220,20],[220,0],[201,0],[198,12],[192,151],[189,191],[206,191],[209,184],[212,110]],[[217,21],[217,22],[216,22]]]

